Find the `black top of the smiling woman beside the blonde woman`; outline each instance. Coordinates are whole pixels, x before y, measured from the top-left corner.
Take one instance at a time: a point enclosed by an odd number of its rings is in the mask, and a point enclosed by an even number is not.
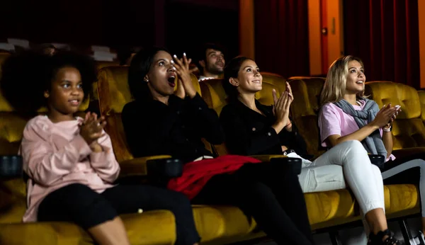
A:
[[[226,146],[230,154],[244,156],[261,154],[283,154],[282,146],[293,149],[297,154],[306,155],[307,145],[293,124],[292,132],[283,129],[276,134],[271,127],[276,118],[272,106],[264,106],[255,101],[261,115],[246,107],[240,101],[229,103],[220,114],[220,122],[225,130]]]

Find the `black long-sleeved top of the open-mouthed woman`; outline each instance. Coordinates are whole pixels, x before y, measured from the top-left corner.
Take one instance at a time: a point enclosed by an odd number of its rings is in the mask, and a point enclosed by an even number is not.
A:
[[[185,100],[170,96],[169,106],[154,101],[132,101],[123,108],[123,126],[133,156],[171,155],[184,162],[212,156],[202,137],[221,144],[224,133],[217,113],[198,94]]]

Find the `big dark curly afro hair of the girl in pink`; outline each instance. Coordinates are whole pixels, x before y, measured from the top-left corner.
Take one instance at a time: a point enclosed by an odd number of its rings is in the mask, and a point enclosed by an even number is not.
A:
[[[84,98],[89,96],[92,83],[96,81],[94,59],[64,50],[52,56],[42,55],[34,50],[11,55],[2,67],[1,92],[16,110],[35,112],[42,106],[47,106],[43,94],[50,91],[52,81],[58,70],[63,67],[74,67],[79,70],[83,81]]]

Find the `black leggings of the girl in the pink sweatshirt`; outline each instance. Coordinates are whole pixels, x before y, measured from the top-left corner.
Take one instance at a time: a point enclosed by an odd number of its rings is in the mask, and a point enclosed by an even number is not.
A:
[[[74,222],[89,229],[120,214],[136,213],[139,209],[173,212],[176,217],[176,244],[192,245],[200,240],[188,198],[154,186],[118,185],[98,194],[83,184],[70,184],[42,200],[38,207],[38,221]]]

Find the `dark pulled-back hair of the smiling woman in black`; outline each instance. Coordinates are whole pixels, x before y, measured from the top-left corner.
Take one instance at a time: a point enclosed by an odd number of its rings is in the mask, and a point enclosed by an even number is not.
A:
[[[241,69],[242,64],[246,61],[250,60],[248,57],[240,56],[234,57],[230,59],[230,61],[226,64],[225,67],[225,79],[222,81],[223,89],[227,93],[227,100],[234,101],[237,100],[238,92],[237,87],[230,84],[230,78],[237,78],[239,74],[239,69]]]

